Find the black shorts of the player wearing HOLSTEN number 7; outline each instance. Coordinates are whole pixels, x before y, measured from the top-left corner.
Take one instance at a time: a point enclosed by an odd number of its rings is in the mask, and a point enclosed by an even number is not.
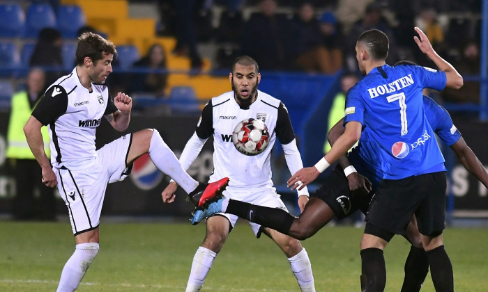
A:
[[[418,230],[426,236],[442,233],[445,222],[445,172],[383,179],[365,221],[394,234],[404,234],[413,214]]]

